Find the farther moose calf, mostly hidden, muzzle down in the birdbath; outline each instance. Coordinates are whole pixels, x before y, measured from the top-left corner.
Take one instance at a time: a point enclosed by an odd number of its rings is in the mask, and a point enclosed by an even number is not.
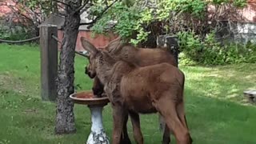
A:
[[[136,66],[150,66],[162,62],[166,62],[173,66],[177,66],[174,56],[165,49],[142,49],[134,47],[127,43],[123,45],[120,38],[114,39],[107,46],[102,47],[102,49],[108,51],[110,56],[113,57],[115,60],[123,59],[124,61],[130,62]],[[102,96],[104,92],[104,86],[99,81],[98,77],[92,76],[90,74],[90,69],[88,69],[87,67],[86,74],[88,74],[90,78],[94,78],[94,86],[92,88],[94,95],[98,95],[99,97]],[[130,139],[126,130],[127,118],[128,117],[126,117],[126,120],[123,125],[123,136],[121,141],[122,144],[130,144]],[[139,116],[137,118],[139,121]],[[162,116],[160,116],[159,118],[159,120],[161,121],[160,128],[162,129],[165,126],[165,122],[163,122]],[[169,131],[164,132],[163,142],[170,142]]]

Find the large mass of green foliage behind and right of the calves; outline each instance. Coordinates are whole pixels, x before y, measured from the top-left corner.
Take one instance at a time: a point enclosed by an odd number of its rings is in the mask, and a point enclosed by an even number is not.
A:
[[[209,14],[208,6],[215,6],[213,14]],[[219,20],[238,18],[237,10],[244,6],[246,0],[122,1],[111,7],[93,30],[100,34],[112,30],[142,47],[155,47],[160,34],[176,34],[183,64],[255,62],[254,44],[222,42],[222,38],[216,38],[222,25]],[[92,11],[99,10],[98,7]]]

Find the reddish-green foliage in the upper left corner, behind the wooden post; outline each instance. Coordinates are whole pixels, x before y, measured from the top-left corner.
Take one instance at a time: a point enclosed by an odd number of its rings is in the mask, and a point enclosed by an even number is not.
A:
[[[8,6],[11,12],[0,18],[0,38],[7,40],[21,40],[39,35],[38,26],[54,11],[52,0],[8,2],[2,2],[2,5]]]

